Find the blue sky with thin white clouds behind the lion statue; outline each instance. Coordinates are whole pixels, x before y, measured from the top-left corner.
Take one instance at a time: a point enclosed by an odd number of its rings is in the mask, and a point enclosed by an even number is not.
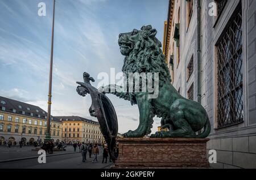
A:
[[[38,3],[46,16],[38,16]],[[117,44],[121,32],[151,24],[163,41],[168,0],[56,0],[53,55],[52,115],[90,118],[89,96],[76,93],[76,81],[89,72],[96,79],[110,68],[121,71],[123,56]],[[51,50],[51,0],[1,0],[0,96],[47,110]],[[138,107],[108,95],[118,115],[119,132],[138,126]],[[152,132],[160,120],[155,118]]]

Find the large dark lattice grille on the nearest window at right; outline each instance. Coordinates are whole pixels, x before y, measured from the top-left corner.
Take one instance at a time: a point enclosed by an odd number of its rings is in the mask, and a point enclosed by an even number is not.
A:
[[[218,128],[243,122],[242,8],[230,19],[217,44]]]

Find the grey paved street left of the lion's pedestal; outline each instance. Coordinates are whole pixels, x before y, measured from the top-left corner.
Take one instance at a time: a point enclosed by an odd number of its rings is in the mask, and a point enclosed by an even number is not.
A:
[[[13,149],[12,149],[13,148]],[[9,149],[10,152],[7,152],[7,148],[1,147],[0,157],[1,160],[8,160],[13,158],[23,158],[22,155],[26,157],[39,156],[36,151],[29,150],[30,147],[19,149],[12,147]],[[5,151],[3,151],[5,149]],[[81,153],[71,153],[72,147],[68,147],[66,152],[54,152],[54,156],[46,156],[46,163],[39,164],[38,158],[30,158],[26,160],[17,160],[10,162],[0,162],[0,169],[9,169],[9,168],[28,168],[28,169],[100,169],[100,168],[109,168],[112,163],[102,163],[102,150],[100,148],[100,155],[98,155],[98,162],[93,163],[93,156],[89,158],[89,153],[87,153],[85,162],[82,162]],[[16,150],[16,152],[15,152]],[[23,151],[22,151],[23,150]],[[20,151],[20,152],[19,152]],[[79,149],[78,149],[79,151]],[[68,153],[68,154],[67,154]],[[60,155],[61,154],[61,155]],[[55,156],[57,155],[57,156]],[[7,158],[8,157],[8,158]]]

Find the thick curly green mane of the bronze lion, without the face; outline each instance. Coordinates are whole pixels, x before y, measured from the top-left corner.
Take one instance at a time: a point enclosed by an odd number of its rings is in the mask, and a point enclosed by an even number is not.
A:
[[[159,87],[164,82],[171,83],[171,76],[165,63],[161,42],[154,36],[150,37],[151,25],[141,28],[142,34],[135,42],[134,49],[125,57],[122,71],[127,72],[159,72]]]

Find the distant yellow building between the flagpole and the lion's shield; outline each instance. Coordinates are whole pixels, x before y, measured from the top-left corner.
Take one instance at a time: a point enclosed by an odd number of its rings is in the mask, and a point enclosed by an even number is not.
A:
[[[64,142],[104,142],[98,122],[79,116],[58,116],[56,118],[63,123],[62,140]]]

